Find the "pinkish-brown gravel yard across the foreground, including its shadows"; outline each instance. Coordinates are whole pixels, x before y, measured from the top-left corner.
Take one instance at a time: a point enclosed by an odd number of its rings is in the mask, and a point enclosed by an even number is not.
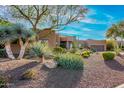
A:
[[[11,76],[9,87],[18,88],[109,88],[124,83],[124,59],[104,61],[101,54],[84,59],[84,70],[48,69],[34,60],[0,59],[0,73]],[[20,80],[27,69],[36,69],[36,80]]]

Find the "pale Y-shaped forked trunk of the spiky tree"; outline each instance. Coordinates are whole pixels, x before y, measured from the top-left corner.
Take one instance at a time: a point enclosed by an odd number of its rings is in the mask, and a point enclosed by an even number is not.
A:
[[[23,44],[22,39],[19,38],[19,42],[20,42],[21,49],[20,49],[20,53],[19,53],[18,59],[22,59],[24,54],[25,54],[25,49],[26,49],[26,47],[28,45],[29,39],[27,39],[25,44]]]

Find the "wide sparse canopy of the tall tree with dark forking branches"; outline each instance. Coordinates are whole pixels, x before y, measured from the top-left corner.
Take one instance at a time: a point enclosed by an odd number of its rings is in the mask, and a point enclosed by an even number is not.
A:
[[[38,28],[60,29],[84,18],[87,9],[83,6],[10,6],[14,18],[25,19],[36,31]]]

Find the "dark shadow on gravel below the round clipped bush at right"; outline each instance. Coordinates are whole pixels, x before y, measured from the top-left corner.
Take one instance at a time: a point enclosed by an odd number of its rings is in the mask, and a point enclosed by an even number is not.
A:
[[[104,62],[109,68],[113,70],[124,71],[124,66],[120,64],[117,60],[110,60],[110,61],[104,61]]]

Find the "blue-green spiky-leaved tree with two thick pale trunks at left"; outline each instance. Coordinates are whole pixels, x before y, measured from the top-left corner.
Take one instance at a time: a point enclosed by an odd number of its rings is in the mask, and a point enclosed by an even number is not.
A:
[[[13,24],[10,26],[1,26],[0,27],[0,43],[5,45],[6,52],[10,59],[15,59],[12,50],[11,43],[14,40],[19,40],[19,44],[21,46],[20,53],[18,59],[23,58],[25,49],[35,35],[34,31],[26,29],[21,24]]]

